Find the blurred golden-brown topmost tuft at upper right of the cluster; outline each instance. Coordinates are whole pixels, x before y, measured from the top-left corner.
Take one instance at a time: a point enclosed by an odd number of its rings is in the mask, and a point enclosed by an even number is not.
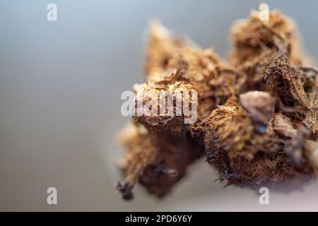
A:
[[[252,11],[249,18],[237,20],[230,37],[235,47],[230,59],[235,64],[252,61],[269,49],[281,50],[292,57],[300,49],[295,25],[279,11],[271,11],[268,21],[259,18],[259,11]]]

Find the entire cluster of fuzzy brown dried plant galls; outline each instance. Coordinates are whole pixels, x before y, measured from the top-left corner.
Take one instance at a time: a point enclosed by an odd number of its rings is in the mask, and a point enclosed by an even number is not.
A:
[[[119,135],[126,150],[118,162],[124,182],[116,188],[124,199],[133,198],[136,182],[165,196],[204,155],[221,181],[237,186],[317,179],[318,71],[291,20],[278,10],[261,13],[233,25],[226,61],[151,23],[145,83],[134,85],[133,120]],[[160,92],[174,94],[171,109]],[[189,96],[189,109],[197,119],[189,124],[178,108],[187,92],[196,94]],[[154,114],[143,114],[147,110]]]

